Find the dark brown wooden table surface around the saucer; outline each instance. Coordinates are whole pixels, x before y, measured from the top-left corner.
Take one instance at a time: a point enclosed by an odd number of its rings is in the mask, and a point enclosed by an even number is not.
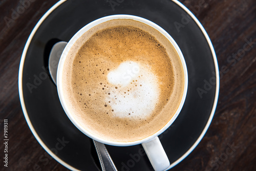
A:
[[[20,1],[0,1],[0,170],[68,170],[54,159],[47,164],[38,161],[38,156],[50,156],[31,133],[20,106],[20,57],[38,20],[57,2],[29,1],[14,19],[12,13],[18,10]],[[208,131],[195,150],[172,170],[255,170],[256,1],[181,3],[207,31],[216,50],[221,79],[219,101]],[[9,124],[8,168],[3,163],[4,119]]]

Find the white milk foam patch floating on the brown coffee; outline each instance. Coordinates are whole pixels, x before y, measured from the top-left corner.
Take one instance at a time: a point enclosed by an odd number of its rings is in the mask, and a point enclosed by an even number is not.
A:
[[[108,81],[113,87],[105,100],[110,102],[116,117],[143,119],[152,114],[160,90],[157,77],[148,68],[125,61],[109,72]]]

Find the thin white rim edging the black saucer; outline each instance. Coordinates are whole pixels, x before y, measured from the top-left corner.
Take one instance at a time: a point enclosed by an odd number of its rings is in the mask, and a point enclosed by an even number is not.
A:
[[[69,165],[68,163],[66,163],[65,161],[61,160],[58,156],[56,156],[49,148],[48,146],[40,139],[40,137],[38,136],[38,134],[36,133],[36,131],[34,130],[34,127],[30,121],[30,118],[28,116],[27,113],[27,109],[26,109],[26,105],[25,105],[25,101],[24,101],[24,95],[23,95],[23,69],[24,69],[24,62],[25,62],[25,58],[27,55],[27,51],[28,48],[30,46],[31,40],[34,37],[35,33],[37,32],[38,28],[40,27],[40,25],[45,21],[45,19],[57,8],[59,7],[61,4],[65,3],[68,0],[60,0],[59,2],[57,2],[54,6],[52,6],[38,21],[38,23],[36,24],[36,26],[34,27],[34,29],[32,30],[31,34],[29,35],[29,38],[26,42],[26,45],[24,47],[23,53],[22,53],[22,57],[20,59],[20,65],[19,65],[19,74],[18,74],[18,90],[19,90],[19,98],[20,98],[20,103],[22,105],[22,110],[25,116],[25,119],[29,125],[29,128],[32,132],[32,134],[34,135],[34,137],[36,138],[36,140],[38,141],[38,143],[45,149],[45,151],[52,156],[57,162],[59,162],[60,164],[62,164],[63,166],[67,167],[68,169],[71,170],[78,170],[75,167]],[[216,111],[216,107],[217,107],[217,102],[218,102],[218,97],[219,97],[219,87],[220,87],[220,78],[219,78],[219,67],[218,67],[218,61],[217,61],[217,56],[214,50],[214,47],[212,45],[212,42],[208,36],[208,34],[206,33],[205,29],[203,28],[202,24],[199,22],[199,20],[196,18],[196,16],[188,9],[186,8],[182,3],[180,3],[177,0],[172,0],[174,3],[176,3],[178,6],[180,6],[188,15],[190,15],[190,17],[196,22],[196,24],[198,25],[198,27],[201,29],[202,33],[204,34],[204,37],[206,38],[209,48],[211,50],[212,53],[212,58],[214,59],[214,65],[215,65],[215,72],[216,72],[216,92],[215,92],[215,99],[214,99],[214,103],[212,105],[212,110],[209,116],[209,119],[202,131],[202,133],[200,134],[200,136],[198,137],[197,141],[186,151],[186,153],[184,153],[178,160],[176,160],[174,163],[172,163],[167,169],[170,169],[172,167],[174,167],[175,165],[177,165],[178,163],[180,163],[183,159],[185,159],[195,148],[196,146],[199,144],[199,142],[202,140],[202,138],[204,137],[206,131],[209,128],[209,125],[212,121],[212,118],[214,117],[215,111]]]

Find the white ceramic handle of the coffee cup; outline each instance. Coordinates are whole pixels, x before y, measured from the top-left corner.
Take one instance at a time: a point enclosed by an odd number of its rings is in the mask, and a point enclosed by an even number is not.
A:
[[[156,171],[165,170],[169,167],[169,159],[158,137],[149,142],[142,143],[142,146]]]

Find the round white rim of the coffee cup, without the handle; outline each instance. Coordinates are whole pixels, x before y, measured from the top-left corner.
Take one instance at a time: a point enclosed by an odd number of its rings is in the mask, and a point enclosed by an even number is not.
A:
[[[91,132],[87,131],[86,129],[84,129],[84,127],[82,127],[80,125],[80,123],[72,116],[67,103],[65,101],[65,98],[63,96],[63,89],[62,89],[62,71],[63,71],[63,66],[65,64],[65,60],[67,57],[68,52],[70,51],[71,47],[75,44],[76,40],[81,37],[84,33],[86,33],[88,30],[90,30],[91,28],[107,22],[109,20],[112,19],[133,19],[136,20],[138,22],[141,22],[143,24],[146,24],[148,26],[153,27],[154,29],[158,30],[161,34],[163,34],[169,41],[170,43],[174,46],[175,50],[177,51],[181,63],[182,63],[182,67],[183,67],[183,73],[184,73],[184,89],[183,89],[183,95],[181,98],[181,102],[179,104],[179,107],[176,111],[176,113],[174,114],[174,116],[167,122],[167,124],[165,124],[162,129],[160,129],[159,131],[157,131],[155,134],[148,136],[146,138],[143,138],[141,140],[136,140],[136,141],[129,141],[129,142],[117,142],[117,141],[110,141],[110,140],[106,140],[103,138],[98,137],[97,135],[92,134]],[[101,143],[104,144],[109,144],[109,145],[115,145],[115,146],[130,146],[130,145],[136,145],[136,144],[141,144],[144,142],[148,142],[151,141],[152,139],[154,139],[155,137],[157,137],[158,135],[160,135],[161,133],[163,133],[174,121],[175,119],[178,117],[183,104],[185,102],[185,98],[186,98],[186,94],[187,94],[187,87],[188,87],[188,74],[187,74],[187,67],[186,67],[186,63],[185,63],[185,59],[183,57],[183,54],[179,48],[179,46],[177,45],[176,41],[172,38],[172,36],[170,36],[164,29],[162,29],[160,26],[158,26],[157,24],[151,22],[148,19],[139,17],[139,16],[135,16],[135,15],[127,15],[127,14],[117,14],[117,15],[109,15],[109,16],[105,16],[99,19],[94,20],[93,22],[87,24],[86,26],[82,27],[68,42],[67,46],[65,47],[65,49],[63,50],[59,63],[58,63],[58,69],[57,69],[57,92],[58,92],[58,96],[59,96],[59,100],[61,102],[62,108],[65,111],[66,115],[69,117],[69,119],[72,121],[72,123],[85,135],[87,135],[88,137],[99,141]]]

